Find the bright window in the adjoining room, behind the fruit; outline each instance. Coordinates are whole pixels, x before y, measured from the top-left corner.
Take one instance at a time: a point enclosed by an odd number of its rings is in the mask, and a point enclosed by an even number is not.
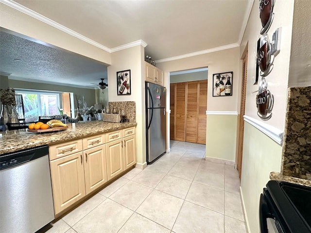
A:
[[[16,90],[22,95],[25,118],[59,115],[59,93]]]

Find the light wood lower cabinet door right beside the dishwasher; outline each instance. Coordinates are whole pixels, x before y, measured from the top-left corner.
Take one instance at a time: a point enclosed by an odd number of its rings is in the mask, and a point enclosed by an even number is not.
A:
[[[50,162],[54,211],[58,214],[86,196],[82,152]]]

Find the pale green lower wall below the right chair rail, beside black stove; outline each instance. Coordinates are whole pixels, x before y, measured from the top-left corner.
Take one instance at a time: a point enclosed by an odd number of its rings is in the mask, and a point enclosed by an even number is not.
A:
[[[280,145],[245,122],[241,191],[249,233],[259,233],[259,196],[270,172],[280,172],[281,153]]]

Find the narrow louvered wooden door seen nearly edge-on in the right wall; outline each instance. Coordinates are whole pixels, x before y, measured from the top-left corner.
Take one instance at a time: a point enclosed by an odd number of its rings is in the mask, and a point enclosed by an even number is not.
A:
[[[239,117],[239,142],[238,142],[238,171],[241,179],[242,173],[242,154],[243,154],[243,136],[244,136],[244,119],[245,114],[245,96],[246,96],[246,78],[247,78],[247,52],[242,62],[242,86],[241,86],[241,108]]]

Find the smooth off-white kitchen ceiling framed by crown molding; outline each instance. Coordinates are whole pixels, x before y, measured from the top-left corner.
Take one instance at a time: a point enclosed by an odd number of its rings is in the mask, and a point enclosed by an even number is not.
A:
[[[159,60],[239,43],[250,0],[15,1],[109,49],[141,39]]]

